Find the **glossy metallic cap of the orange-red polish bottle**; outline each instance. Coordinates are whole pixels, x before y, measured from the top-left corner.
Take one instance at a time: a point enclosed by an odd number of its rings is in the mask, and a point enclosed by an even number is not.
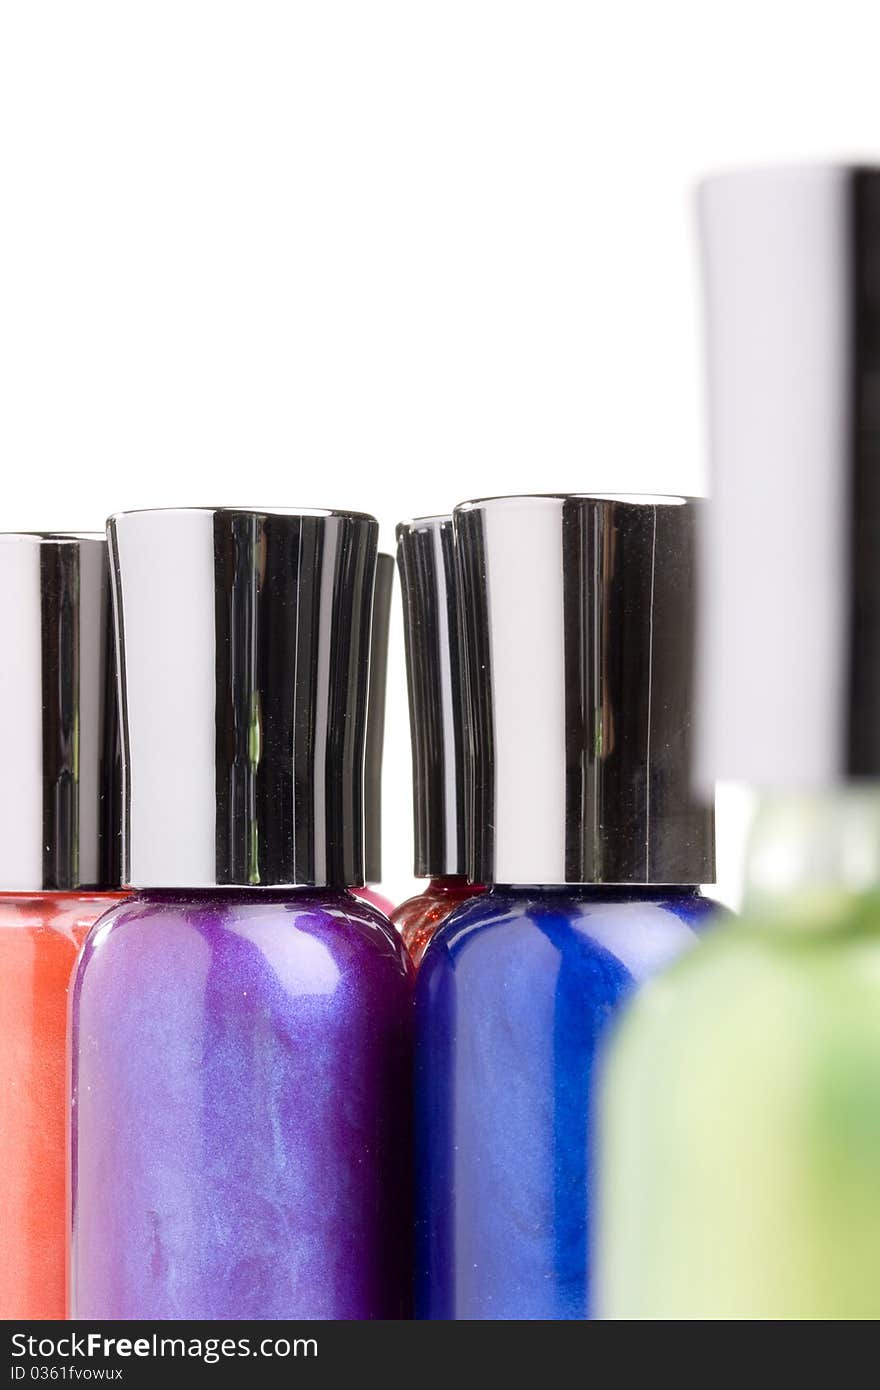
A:
[[[120,885],[107,543],[0,535],[0,890]]]

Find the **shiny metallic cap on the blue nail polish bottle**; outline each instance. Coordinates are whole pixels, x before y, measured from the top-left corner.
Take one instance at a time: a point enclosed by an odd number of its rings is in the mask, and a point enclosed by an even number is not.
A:
[[[467,634],[468,873],[503,884],[699,884],[688,498],[491,498],[455,512]]]

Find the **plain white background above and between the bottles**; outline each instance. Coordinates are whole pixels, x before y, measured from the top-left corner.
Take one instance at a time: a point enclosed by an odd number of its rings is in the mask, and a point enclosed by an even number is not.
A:
[[[876,153],[870,6],[0,8],[0,527],[703,488],[691,190]],[[874,142],[874,143],[872,143]],[[385,883],[410,888],[395,616]],[[722,802],[735,897],[742,802]]]

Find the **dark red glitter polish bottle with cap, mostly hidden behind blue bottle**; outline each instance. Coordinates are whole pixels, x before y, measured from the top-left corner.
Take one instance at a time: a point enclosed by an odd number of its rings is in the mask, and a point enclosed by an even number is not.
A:
[[[413,745],[414,874],[428,885],[400,903],[392,922],[418,965],[449,913],[482,892],[466,876],[466,688],[452,517],[403,521],[398,566]]]

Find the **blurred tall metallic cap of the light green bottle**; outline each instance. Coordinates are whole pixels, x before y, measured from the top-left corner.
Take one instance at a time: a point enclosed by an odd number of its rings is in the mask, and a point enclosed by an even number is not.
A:
[[[698,776],[880,776],[880,171],[699,196],[713,505]]]

